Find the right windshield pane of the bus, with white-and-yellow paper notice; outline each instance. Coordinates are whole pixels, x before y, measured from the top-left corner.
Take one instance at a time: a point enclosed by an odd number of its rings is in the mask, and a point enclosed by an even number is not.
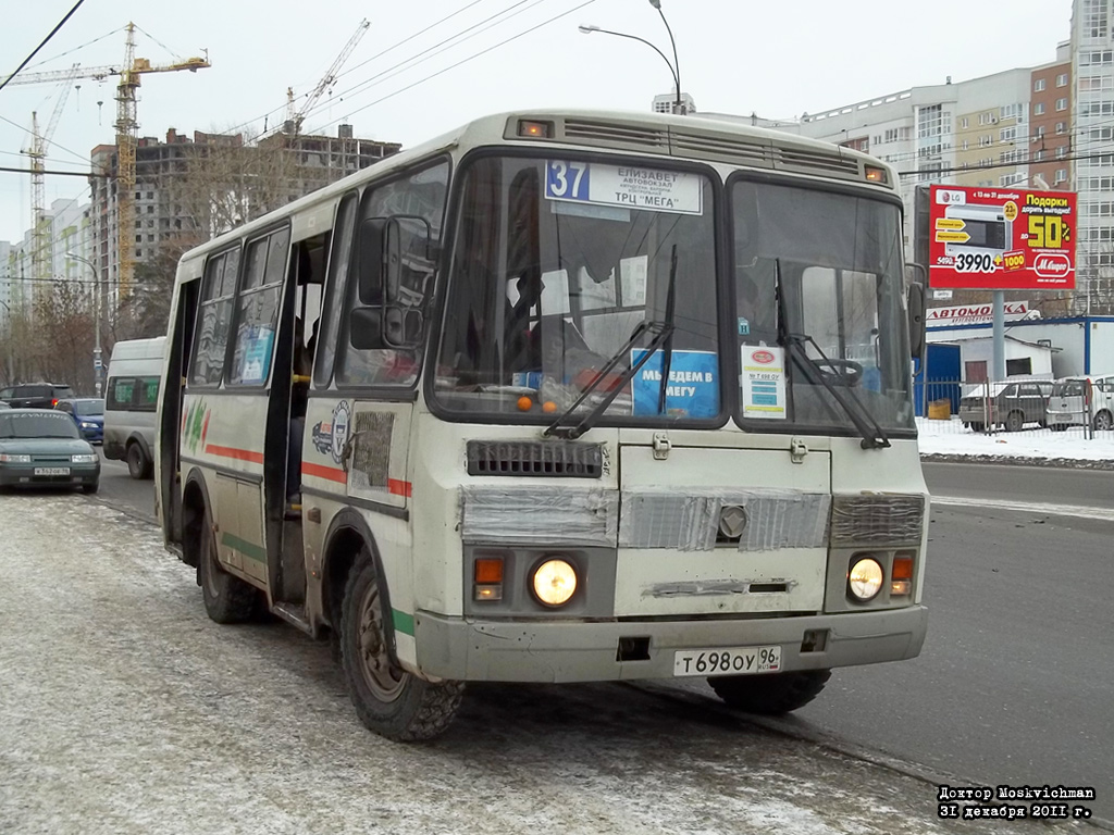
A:
[[[743,425],[912,430],[899,207],[745,180],[731,200]]]

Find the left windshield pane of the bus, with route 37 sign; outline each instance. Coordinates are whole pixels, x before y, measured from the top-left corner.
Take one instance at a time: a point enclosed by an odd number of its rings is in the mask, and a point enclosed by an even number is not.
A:
[[[433,386],[443,409],[553,422],[589,391],[576,411],[609,401],[605,423],[717,422],[706,177],[495,156],[462,176]]]

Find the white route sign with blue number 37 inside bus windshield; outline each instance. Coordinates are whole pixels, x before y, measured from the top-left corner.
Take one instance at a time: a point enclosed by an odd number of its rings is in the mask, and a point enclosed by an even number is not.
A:
[[[704,179],[696,174],[638,165],[550,159],[546,163],[546,199],[702,215]]]

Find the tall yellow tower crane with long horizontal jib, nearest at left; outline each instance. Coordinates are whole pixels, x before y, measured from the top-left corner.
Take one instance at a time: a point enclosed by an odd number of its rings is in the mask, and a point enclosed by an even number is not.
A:
[[[196,72],[212,65],[208,57],[187,58],[174,63],[153,65],[146,58],[136,58],[135,23],[127,24],[127,42],[124,50],[124,63],[119,67],[80,68],[72,78],[92,78],[101,80],[109,76],[119,76],[116,87],[116,208],[117,208],[117,264],[120,297],[131,293],[131,276],[135,271],[135,258],[131,254],[135,235],[135,186],[136,186],[136,91],[139,89],[140,76],[148,72],[174,72],[189,70]],[[29,72],[12,78],[9,85],[42,84],[59,81],[70,76],[69,70],[55,72]],[[72,80],[72,78],[70,80]]]

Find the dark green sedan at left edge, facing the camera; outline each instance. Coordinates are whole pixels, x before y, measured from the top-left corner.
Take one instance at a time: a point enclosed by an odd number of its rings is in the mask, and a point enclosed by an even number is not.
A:
[[[0,412],[0,488],[79,487],[96,493],[100,456],[61,412]]]

